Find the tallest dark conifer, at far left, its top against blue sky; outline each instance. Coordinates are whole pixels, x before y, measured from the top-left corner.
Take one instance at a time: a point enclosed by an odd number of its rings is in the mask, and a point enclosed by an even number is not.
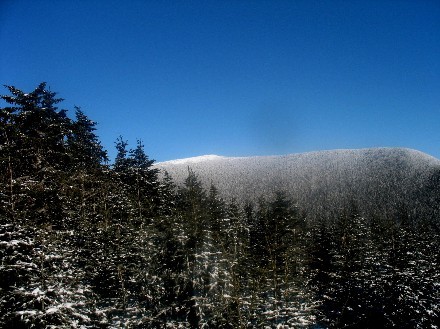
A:
[[[52,224],[60,225],[63,214],[59,191],[69,163],[65,140],[71,120],[65,110],[58,111],[56,104],[62,99],[47,90],[45,83],[31,93],[6,87],[12,95],[2,96],[11,105],[2,109],[3,124],[6,128],[14,125],[14,130],[7,129],[3,134],[8,145],[4,157],[8,159],[10,207],[15,213],[21,209],[23,218],[37,223],[50,219]],[[11,152],[20,154],[14,166]]]

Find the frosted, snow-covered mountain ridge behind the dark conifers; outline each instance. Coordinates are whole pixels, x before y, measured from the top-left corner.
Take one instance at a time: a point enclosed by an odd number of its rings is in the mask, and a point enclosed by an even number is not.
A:
[[[314,215],[327,216],[330,209],[355,204],[363,213],[406,209],[416,216],[432,211],[439,194],[440,160],[407,148],[234,158],[207,155],[156,166],[177,184],[184,182],[189,167],[205,187],[213,183],[226,199],[255,201],[283,190]]]

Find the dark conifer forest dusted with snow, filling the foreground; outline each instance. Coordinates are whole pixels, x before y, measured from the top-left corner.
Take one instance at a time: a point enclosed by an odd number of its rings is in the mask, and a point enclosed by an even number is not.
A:
[[[45,83],[0,108],[1,328],[438,328],[439,220],[223,200],[111,163]]]

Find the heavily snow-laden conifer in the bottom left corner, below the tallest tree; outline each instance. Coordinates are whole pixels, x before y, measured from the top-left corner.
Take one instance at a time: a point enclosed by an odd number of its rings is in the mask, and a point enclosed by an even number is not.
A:
[[[0,225],[2,328],[92,326],[94,296],[69,232]]]

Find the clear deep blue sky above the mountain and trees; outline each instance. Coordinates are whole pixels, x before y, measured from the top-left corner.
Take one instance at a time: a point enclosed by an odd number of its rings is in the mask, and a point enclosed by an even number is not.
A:
[[[376,146],[440,158],[438,0],[0,0],[0,45],[0,83],[46,81],[112,157],[123,135],[157,161]]]

